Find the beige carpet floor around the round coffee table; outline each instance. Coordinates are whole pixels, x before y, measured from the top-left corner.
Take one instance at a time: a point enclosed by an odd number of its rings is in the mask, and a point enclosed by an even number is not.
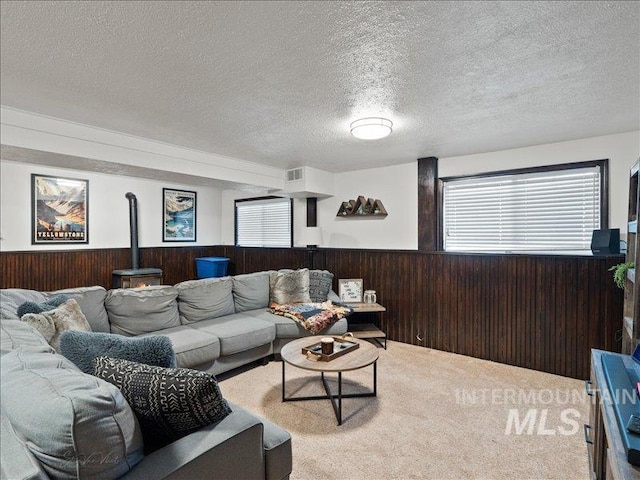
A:
[[[328,400],[282,403],[280,362],[220,387],[291,433],[294,480],[589,478],[583,382],[397,342],[379,351],[378,396],[345,399],[342,426]],[[286,372],[288,395],[324,392],[318,374]],[[364,391],[372,368],[343,379]]]

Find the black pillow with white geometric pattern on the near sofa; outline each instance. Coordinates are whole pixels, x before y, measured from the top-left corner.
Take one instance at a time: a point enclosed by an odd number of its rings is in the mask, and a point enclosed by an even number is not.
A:
[[[110,357],[97,357],[93,366],[94,375],[118,387],[129,402],[147,453],[231,413],[215,377],[208,373]]]

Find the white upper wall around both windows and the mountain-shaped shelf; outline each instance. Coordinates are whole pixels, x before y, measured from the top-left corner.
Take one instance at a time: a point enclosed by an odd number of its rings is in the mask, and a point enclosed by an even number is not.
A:
[[[624,235],[627,224],[629,169],[640,156],[640,132],[606,135],[500,152],[441,158],[438,175],[450,177],[569,162],[609,159],[609,226]],[[324,247],[415,250],[418,242],[418,165],[373,168],[336,174],[336,196],[318,200],[318,226]],[[380,218],[337,218],[341,202],[358,195],[382,201],[389,215]],[[243,192],[222,194],[222,242],[233,244],[233,199]],[[253,195],[257,196],[257,195]],[[294,200],[294,245],[302,246],[306,203]]]

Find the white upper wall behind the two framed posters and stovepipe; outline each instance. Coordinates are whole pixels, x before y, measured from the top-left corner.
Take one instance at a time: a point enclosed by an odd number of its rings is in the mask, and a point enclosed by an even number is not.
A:
[[[88,244],[31,245],[32,173],[89,180]],[[163,188],[197,193],[196,242],[162,241]],[[133,192],[138,201],[140,247],[220,243],[220,190],[217,188],[167,184],[156,180],[0,160],[0,251],[127,248],[130,246],[127,192]]]

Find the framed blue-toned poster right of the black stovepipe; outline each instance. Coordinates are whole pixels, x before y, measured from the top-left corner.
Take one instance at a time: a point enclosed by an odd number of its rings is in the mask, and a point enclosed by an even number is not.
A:
[[[196,192],[162,189],[164,198],[163,242],[196,241]]]

